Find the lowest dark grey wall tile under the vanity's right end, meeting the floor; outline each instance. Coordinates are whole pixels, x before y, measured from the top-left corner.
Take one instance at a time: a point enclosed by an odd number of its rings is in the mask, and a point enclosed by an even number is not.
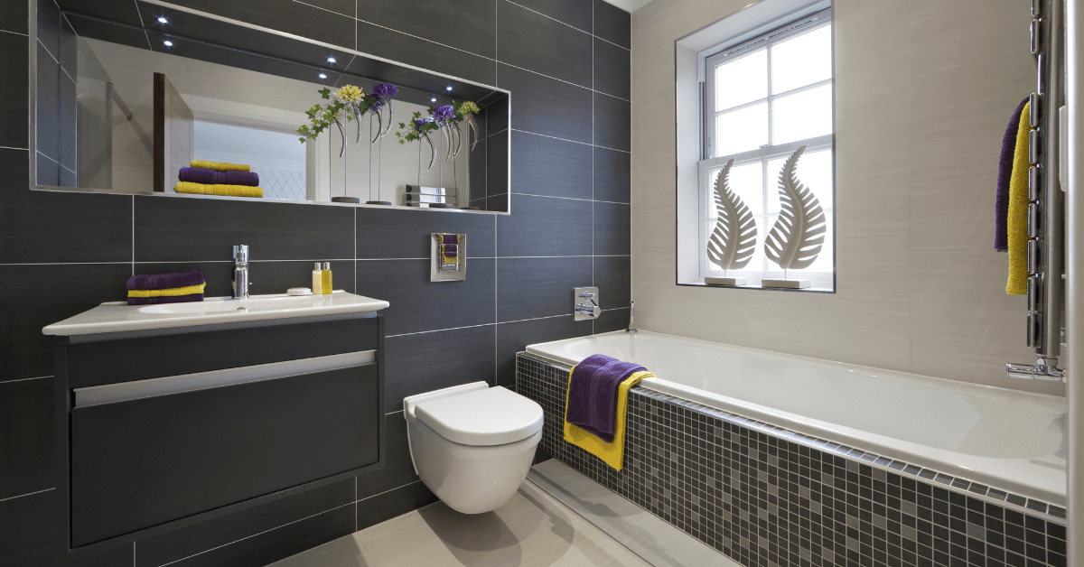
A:
[[[262,567],[353,533],[354,507],[345,505],[173,563],[173,567]]]

